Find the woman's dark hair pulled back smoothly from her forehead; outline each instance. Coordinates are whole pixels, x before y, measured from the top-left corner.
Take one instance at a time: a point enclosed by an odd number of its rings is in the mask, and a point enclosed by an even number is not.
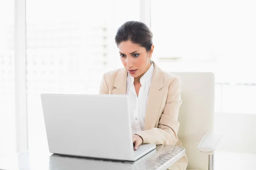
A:
[[[145,47],[149,52],[153,44],[152,38],[153,34],[146,24],[139,21],[127,21],[118,28],[115,41],[118,46],[121,42],[130,40]]]

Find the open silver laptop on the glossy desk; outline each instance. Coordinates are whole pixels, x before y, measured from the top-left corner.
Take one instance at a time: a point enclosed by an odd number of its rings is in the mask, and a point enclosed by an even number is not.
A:
[[[126,95],[41,94],[49,152],[136,161],[154,150],[134,151]]]

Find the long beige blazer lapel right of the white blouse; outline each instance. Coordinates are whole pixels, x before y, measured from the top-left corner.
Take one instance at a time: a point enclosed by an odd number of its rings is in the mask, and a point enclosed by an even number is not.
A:
[[[156,122],[163,100],[163,71],[154,64],[154,71],[151,80],[151,86],[148,94],[148,104],[145,115],[145,130],[152,129]]]

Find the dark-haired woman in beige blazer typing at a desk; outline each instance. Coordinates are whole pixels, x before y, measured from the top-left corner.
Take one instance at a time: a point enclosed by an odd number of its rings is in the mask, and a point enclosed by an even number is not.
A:
[[[151,61],[154,51],[150,29],[128,21],[119,27],[115,41],[124,68],[105,73],[100,94],[127,94],[131,112],[134,150],[140,144],[181,146],[177,138],[181,105],[180,77],[165,72]],[[186,170],[183,156],[170,169]]]

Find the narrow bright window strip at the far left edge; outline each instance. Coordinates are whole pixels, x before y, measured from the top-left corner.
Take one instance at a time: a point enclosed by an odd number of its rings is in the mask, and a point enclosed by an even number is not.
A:
[[[15,153],[14,2],[0,1],[0,153]]]

